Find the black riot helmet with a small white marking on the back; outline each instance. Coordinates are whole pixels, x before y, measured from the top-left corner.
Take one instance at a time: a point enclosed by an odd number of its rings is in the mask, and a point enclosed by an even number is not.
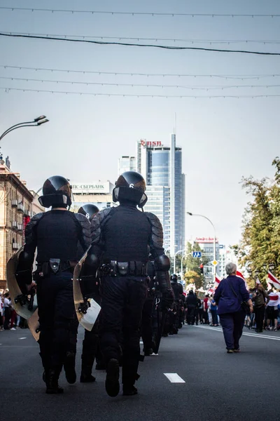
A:
[[[146,205],[148,197],[145,194],[146,182],[141,174],[127,171],[120,175],[113,189],[113,201],[127,200],[137,203],[139,208]]]

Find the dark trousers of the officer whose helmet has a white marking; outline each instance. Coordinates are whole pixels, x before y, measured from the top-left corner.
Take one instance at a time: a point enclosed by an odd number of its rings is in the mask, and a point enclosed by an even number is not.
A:
[[[142,276],[103,276],[100,345],[105,362],[120,359],[123,350],[123,384],[134,385],[140,357],[140,325],[147,294]]]

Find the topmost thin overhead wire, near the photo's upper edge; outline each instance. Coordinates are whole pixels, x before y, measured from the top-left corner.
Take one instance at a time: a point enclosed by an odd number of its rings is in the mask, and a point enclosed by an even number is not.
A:
[[[8,11],[50,12],[50,13],[90,13],[91,15],[144,15],[144,16],[189,16],[191,18],[279,18],[275,13],[164,13],[164,12],[120,12],[120,11],[78,11],[71,9],[0,7]]]

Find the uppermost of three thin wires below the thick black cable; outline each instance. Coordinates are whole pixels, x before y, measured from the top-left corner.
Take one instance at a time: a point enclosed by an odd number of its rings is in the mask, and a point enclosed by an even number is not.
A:
[[[92,70],[70,70],[70,69],[50,69],[48,67],[25,67],[0,65],[4,69],[34,70],[35,72],[63,72],[63,73],[80,73],[80,74],[111,74],[114,76],[162,76],[162,77],[210,77],[221,79],[262,79],[266,77],[279,77],[280,74],[174,74],[174,73],[132,73],[132,72],[100,72]]]

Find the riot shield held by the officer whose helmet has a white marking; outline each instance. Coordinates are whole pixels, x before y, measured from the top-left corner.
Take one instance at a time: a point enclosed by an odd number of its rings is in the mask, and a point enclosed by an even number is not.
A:
[[[87,251],[89,248],[87,249]],[[83,291],[81,288],[80,276],[83,273],[83,265],[87,258],[87,251],[83,255],[83,258],[77,263],[73,273],[73,298],[76,309],[76,315],[79,323],[86,329],[92,330],[97,316],[100,312],[101,307],[93,298],[84,298]]]

